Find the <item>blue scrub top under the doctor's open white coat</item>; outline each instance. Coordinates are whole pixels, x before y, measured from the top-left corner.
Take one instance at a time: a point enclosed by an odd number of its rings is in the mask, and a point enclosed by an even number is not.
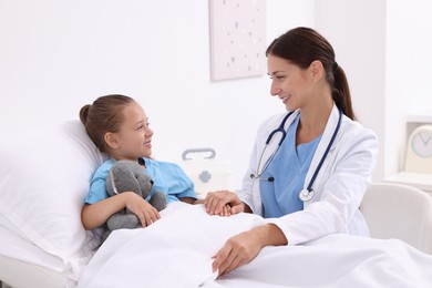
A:
[[[306,174],[322,134],[296,147],[298,123],[299,115],[288,127],[285,141],[259,179],[263,215],[266,218],[281,217],[304,209],[299,193],[304,188]],[[269,182],[268,177],[274,181]]]

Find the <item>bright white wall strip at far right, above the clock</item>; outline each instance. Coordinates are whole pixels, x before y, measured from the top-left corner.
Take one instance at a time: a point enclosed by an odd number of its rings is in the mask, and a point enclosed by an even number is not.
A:
[[[387,3],[385,174],[403,169],[407,114],[431,109],[432,30],[430,0]]]

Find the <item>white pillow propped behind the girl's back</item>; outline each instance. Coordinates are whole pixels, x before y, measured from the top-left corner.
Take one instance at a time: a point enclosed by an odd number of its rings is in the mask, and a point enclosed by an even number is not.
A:
[[[0,216],[65,267],[89,258],[100,243],[83,228],[81,208],[105,157],[83,124],[66,121],[3,138],[0,160]]]

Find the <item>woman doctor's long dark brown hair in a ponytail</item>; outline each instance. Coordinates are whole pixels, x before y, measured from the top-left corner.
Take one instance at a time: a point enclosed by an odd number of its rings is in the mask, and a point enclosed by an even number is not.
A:
[[[333,48],[321,34],[310,28],[295,28],[271,42],[266,51],[267,56],[270,54],[289,60],[301,69],[320,61],[336,105],[348,117],[356,120],[347,76],[335,60]]]

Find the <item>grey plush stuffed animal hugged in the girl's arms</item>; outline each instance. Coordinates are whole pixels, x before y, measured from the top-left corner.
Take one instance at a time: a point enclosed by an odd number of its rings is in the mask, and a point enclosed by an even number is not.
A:
[[[115,162],[106,176],[106,192],[109,196],[123,192],[135,192],[143,198],[147,198],[152,186],[152,177],[135,161],[122,160]],[[148,203],[158,212],[164,209],[166,207],[165,194],[156,192],[152,195]],[[113,230],[142,227],[140,218],[127,208],[112,215],[106,220],[106,226],[107,230],[102,235],[103,241]]]

